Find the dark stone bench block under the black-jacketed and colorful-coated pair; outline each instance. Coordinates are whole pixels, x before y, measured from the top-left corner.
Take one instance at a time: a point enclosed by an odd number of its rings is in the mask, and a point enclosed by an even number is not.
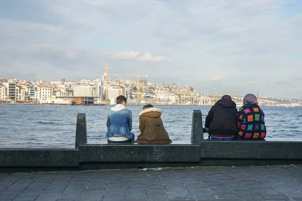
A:
[[[302,159],[302,142],[200,140],[201,159]]]

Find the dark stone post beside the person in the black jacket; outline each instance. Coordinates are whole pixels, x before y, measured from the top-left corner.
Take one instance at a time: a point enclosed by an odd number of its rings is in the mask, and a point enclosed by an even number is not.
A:
[[[191,143],[199,143],[201,139],[203,139],[202,114],[200,110],[193,110]]]

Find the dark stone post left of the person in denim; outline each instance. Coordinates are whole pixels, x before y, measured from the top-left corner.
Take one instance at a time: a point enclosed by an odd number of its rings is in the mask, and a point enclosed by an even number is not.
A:
[[[75,130],[75,149],[78,149],[80,144],[87,143],[87,126],[86,113],[78,113],[77,129]]]

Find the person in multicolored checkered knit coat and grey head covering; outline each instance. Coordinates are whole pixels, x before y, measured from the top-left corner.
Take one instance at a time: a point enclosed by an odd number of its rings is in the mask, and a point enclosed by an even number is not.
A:
[[[257,97],[254,94],[246,94],[243,99],[243,107],[239,109],[236,125],[241,139],[263,139],[266,136],[264,112],[259,108]]]

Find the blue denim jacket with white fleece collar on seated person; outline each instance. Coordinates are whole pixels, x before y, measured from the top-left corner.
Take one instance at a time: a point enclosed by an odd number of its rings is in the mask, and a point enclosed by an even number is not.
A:
[[[109,137],[126,137],[131,138],[132,130],[132,113],[123,105],[117,104],[111,108],[107,118],[107,134]]]

